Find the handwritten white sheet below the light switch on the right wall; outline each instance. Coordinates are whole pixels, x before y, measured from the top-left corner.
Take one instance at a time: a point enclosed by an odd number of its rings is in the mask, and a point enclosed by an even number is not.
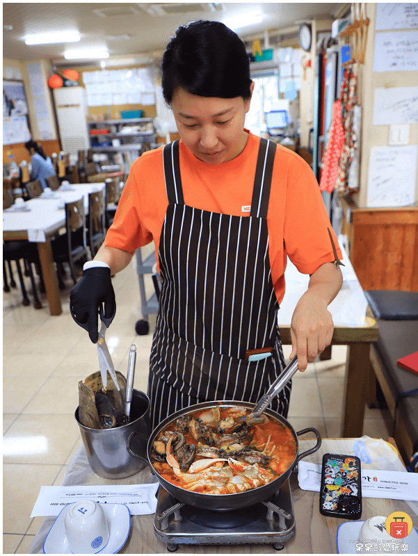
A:
[[[415,202],[418,145],[373,147],[369,159],[367,206],[406,206]]]

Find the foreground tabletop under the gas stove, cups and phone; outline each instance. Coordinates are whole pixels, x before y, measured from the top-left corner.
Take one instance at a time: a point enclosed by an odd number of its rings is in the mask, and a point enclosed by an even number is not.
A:
[[[303,461],[320,464],[326,452],[337,454],[353,453],[353,445],[358,439],[323,439],[321,448]],[[387,446],[382,439],[369,439],[362,437],[362,442],[367,447],[371,463],[362,461],[362,469],[386,469],[387,471],[405,471],[401,459],[396,452]],[[393,439],[387,439],[395,446]],[[300,452],[312,448],[312,439],[299,439]],[[406,473],[406,471],[405,471]],[[64,486],[96,486],[116,484],[146,484],[156,482],[156,477],[151,475],[146,467],[132,477],[126,479],[104,479],[96,475],[88,465],[86,450],[83,445],[70,460],[62,484]],[[303,491],[298,486],[296,473],[290,476],[291,493],[294,503],[296,520],[296,533],[284,545],[283,553],[288,554],[336,554],[337,529],[344,519],[330,518],[319,513],[319,493]],[[392,512],[406,512],[412,519],[415,529],[418,528],[417,504],[403,500],[389,500],[387,498],[363,498],[362,521],[372,516],[389,516]],[[38,532],[35,534],[29,554],[42,554],[42,546],[47,534],[54,524],[56,517],[47,516],[42,521]],[[154,514],[147,516],[132,516],[131,531],[127,542],[120,550],[123,554],[160,554],[168,555],[167,544],[156,539],[154,533]],[[278,554],[271,544],[219,544],[196,545],[181,544],[180,554]],[[365,552],[363,552],[364,554]],[[373,552],[371,552],[373,553]],[[367,554],[367,553],[366,553]],[[399,551],[401,554],[401,551]]]

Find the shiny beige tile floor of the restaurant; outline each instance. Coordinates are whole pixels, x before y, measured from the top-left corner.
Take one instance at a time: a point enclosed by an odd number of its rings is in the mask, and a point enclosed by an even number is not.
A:
[[[136,344],[134,387],[146,391],[152,332],[135,332],[142,317],[135,259],[114,277],[113,286],[118,311],[106,341],[115,368],[124,375],[129,347]],[[27,553],[43,519],[30,517],[40,486],[61,484],[81,444],[74,419],[77,385],[98,370],[97,350],[70,316],[71,287],[68,277],[61,293],[63,313],[54,317],[45,295],[43,308],[35,310],[22,305],[18,287],[3,293],[3,553]],[[149,276],[145,287],[150,295]],[[29,283],[28,292],[31,297]],[[284,346],[284,354],[289,357],[290,346]],[[318,359],[296,374],[288,416],[295,430],[314,426],[323,436],[339,436],[345,359],[346,348],[335,346],[330,361]],[[390,436],[387,411],[366,409],[364,434]]]

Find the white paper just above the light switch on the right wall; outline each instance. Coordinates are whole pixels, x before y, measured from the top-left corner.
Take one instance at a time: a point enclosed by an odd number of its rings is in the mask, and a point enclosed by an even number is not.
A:
[[[373,125],[418,124],[418,87],[374,90]]]

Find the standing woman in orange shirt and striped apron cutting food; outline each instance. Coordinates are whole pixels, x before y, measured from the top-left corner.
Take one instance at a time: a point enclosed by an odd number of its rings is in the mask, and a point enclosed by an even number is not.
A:
[[[311,275],[291,322],[300,370],[330,344],[327,306],[342,284],[310,167],[244,129],[254,83],[238,35],[218,22],[179,27],[161,70],[181,140],[132,165],[105,245],[70,295],[96,342],[98,305],[106,316],[115,309],[111,274],[154,240],[162,286],[148,383],[153,426],[198,402],[256,402],[281,373],[287,256]],[[251,361],[253,350],[267,357]],[[285,417],[289,395],[287,386],[271,405]]]

